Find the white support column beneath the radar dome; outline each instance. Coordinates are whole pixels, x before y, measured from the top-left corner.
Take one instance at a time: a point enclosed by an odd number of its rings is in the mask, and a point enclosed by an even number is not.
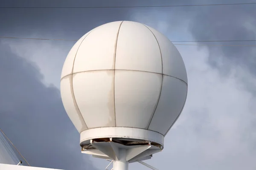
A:
[[[119,149],[119,160],[113,161],[113,170],[128,170],[129,162],[126,161],[126,149]]]

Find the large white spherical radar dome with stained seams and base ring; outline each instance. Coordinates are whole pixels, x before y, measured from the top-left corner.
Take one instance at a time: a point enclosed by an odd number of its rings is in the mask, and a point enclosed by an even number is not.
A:
[[[186,101],[186,68],[177,48],[154,28],[107,23],[81,37],[61,73],[61,98],[80,133],[98,137],[163,138]]]

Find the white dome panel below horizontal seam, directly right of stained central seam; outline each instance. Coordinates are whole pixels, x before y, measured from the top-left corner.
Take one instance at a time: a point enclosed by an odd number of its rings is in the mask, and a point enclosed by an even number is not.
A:
[[[157,105],[161,84],[161,74],[117,70],[116,126],[147,128]]]

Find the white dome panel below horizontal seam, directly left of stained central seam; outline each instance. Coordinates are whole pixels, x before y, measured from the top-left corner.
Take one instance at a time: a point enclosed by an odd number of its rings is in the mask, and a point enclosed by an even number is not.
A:
[[[88,128],[115,126],[114,71],[73,74],[73,88]]]

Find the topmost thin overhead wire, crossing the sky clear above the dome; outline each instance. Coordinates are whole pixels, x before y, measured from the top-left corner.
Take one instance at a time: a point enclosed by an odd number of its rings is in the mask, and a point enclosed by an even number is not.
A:
[[[182,6],[230,6],[230,5],[253,5],[256,3],[223,3],[223,4],[198,4],[198,5],[163,5],[163,6],[71,6],[71,7],[16,7],[6,6],[0,8],[160,8],[160,7],[182,7]]]

